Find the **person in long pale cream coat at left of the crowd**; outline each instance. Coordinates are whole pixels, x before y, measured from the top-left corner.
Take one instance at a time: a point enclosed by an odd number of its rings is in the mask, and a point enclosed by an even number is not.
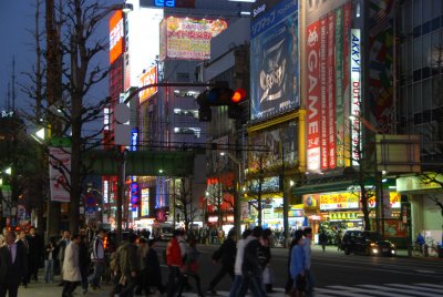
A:
[[[72,297],[72,293],[82,280],[79,263],[80,240],[80,235],[75,234],[64,252],[62,297]]]

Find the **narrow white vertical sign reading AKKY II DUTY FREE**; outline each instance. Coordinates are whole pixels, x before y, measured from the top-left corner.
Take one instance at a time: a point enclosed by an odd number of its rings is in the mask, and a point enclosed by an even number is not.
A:
[[[352,165],[358,165],[361,158],[361,123],[360,123],[360,98],[361,98],[361,48],[360,29],[351,30],[351,114],[352,120]],[[356,162],[357,161],[357,162]]]

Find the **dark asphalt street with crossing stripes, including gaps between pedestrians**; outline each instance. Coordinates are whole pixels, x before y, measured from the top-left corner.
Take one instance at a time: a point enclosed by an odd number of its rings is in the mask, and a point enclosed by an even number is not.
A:
[[[163,246],[163,244],[162,244]],[[158,247],[158,254],[162,247]],[[202,252],[202,287],[215,276],[219,266],[214,265],[209,257],[215,246],[199,246]],[[287,249],[272,248],[271,265],[275,269],[275,289],[269,296],[285,296]],[[337,252],[337,247],[328,246],[326,253],[316,246],[312,252],[312,272],[316,276],[316,295],[321,296],[442,296],[443,262],[439,258],[410,258],[405,250],[400,250],[396,257],[368,257],[360,255],[346,256]],[[166,267],[163,266],[163,279],[166,279]],[[190,280],[195,289],[195,284]],[[218,296],[228,296],[230,279],[224,278],[216,287]],[[109,296],[111,286],[90,291],[86,296]],[[61,287],[53,284],[31,283],[28,288],[20,287],[19,296],[59,296]],[[81,295],[79,288],[78,295]],[[151,295],[155,296],[155,295]],[[183,296],[197,296],[186,293]],[[213,296],[207,294],[206,296]]]

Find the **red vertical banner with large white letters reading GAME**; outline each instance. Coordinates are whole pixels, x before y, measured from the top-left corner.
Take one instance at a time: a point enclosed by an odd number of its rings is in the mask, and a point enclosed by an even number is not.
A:
[[[320,21],[307,27],[308,171],[320,170]]]

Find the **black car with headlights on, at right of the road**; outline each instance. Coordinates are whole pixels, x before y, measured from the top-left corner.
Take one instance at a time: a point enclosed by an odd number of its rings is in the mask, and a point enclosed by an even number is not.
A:
[[[384,240],[380,233],[372,231],[347,231],[341,240],[344,255],[351,253],[364,255],[395,256],[395,245]]]

